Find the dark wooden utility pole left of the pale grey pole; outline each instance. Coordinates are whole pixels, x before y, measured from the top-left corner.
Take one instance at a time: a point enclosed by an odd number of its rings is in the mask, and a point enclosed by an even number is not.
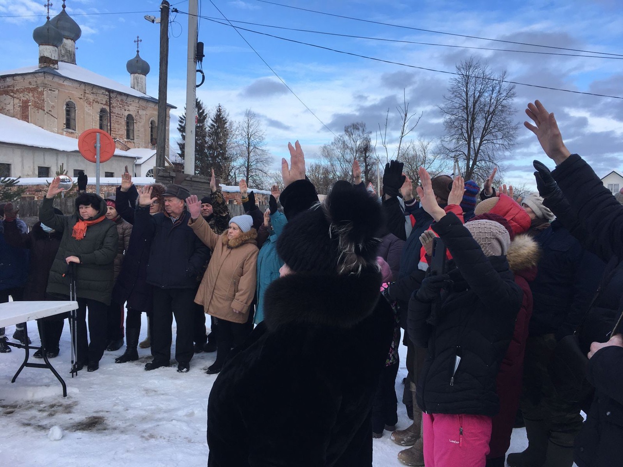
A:
[[[158,129],[156,131],[156,167],[164,167],[166,144],[166,86],[169,73],[169,2],[160,4],[160,70],[158,73]]]

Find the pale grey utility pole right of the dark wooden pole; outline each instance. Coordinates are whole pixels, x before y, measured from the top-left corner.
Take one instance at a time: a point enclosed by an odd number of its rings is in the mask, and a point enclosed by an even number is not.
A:
[[[197,125],[197,0],[188,1],[188,55],[186,59],[186,135],[184,173],[194,175],[195,126]]]

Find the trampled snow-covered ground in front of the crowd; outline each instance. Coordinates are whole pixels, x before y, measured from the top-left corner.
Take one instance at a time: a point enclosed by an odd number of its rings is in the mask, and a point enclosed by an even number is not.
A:
[[[143,336],[146,321],[143,314]],[[11,339],[14,326],[6,329]],[[33,344],[39,342],[36,323],[29,323]],[[20,467],[195,467],[207,463],[207,397],[216,375],[203,369],[216,354],[195,354],[190,372],[176,365],[150,372],[149,349],[139,349],[136,362],[115,364],[123,353],[105,352],[100,369],[77,377],[69,374],[69,326],[60,342],[60,355],[52,364],[67,383],[62,397],[60,383],[47,369],[25,368],[11,384],[24,359],[22,349],[0,354],[0,463]],[[406,347],[401,346],[404,362]],[[174,355],[174,351],[171,352]],[[31,359],[31,361],[34,359]],[[402,395],[404,364],[396,378]],[[398,428],[410,421],[399,404]],[[59,430],[60,428],[60,430]],[[288,427],[283,427],[287,430]],[[60,439],[59,434],[62,434]],[[56,436],[55,436],[56,435]],[[275,433],[279,436],[279,433]],[[510,452],[527,445],[525,429],[515,430]],[[374,440],[374,467],[401,466],[401,450],[389,439]]]

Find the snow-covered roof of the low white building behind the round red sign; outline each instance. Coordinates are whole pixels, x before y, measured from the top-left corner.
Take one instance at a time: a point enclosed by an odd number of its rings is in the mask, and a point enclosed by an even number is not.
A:
[[[44,130],[37,125],[19,120],[19,118],[2,114],[0,114],[0,143],[78,152],[78,140],[76,138],[52,133],[52,131]],[[115,150],[115,156],[136,158],[134,154],[121,149]]]

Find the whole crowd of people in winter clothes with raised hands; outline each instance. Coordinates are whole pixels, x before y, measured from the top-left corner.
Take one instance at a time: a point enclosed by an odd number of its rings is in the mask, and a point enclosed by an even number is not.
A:
[[[67,300],[73,275],[76,370],[97,370],[124,330],[115,362],[150,346],[145,370],[169,366],[173,318],[178,372],[216,351],[209,466],[371,466],[385,431],[409,466],[620,465],[623,205],[553,113],[535,101],[526,114],[556,169],[535,161],[523,199],[495,191],[495,170],[480,191],[419,169],[414,193],[400,161],[378,197],[354,161],[354,184],[319,201],[298,141],[264,213],[240,181],[245,214],[231,217],[212,171],[201,199],[125,173],[115,196],[81,189],[63,215],[57,178],[30,231],[2,206],[0,301]],[[64,318],[42,322],[35,357],[58,356]],[[396,430],[401,335],[412,423]],[[569,348],[579,395],[553,364]],[[507,453],[518,426],[528,447]]]

